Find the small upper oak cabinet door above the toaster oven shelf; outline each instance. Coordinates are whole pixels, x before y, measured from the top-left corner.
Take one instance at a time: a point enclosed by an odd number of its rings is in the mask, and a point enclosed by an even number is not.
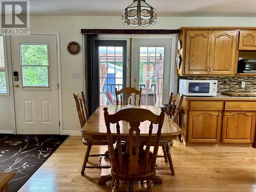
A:
[[[256,50],[256,31],[240,31],[239,50]]]

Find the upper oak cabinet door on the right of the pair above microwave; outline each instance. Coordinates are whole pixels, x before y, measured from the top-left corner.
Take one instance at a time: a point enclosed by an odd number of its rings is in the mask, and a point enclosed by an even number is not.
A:
[[[237,55],[236,31],[213,31],[211,42],[210,74],[234,74]]]

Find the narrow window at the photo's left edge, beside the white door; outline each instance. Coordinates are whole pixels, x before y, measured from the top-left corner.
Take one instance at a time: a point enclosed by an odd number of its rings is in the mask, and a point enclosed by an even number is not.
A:
[[[0,94],[7,93],[6,84],[4,37],[0,36]]]

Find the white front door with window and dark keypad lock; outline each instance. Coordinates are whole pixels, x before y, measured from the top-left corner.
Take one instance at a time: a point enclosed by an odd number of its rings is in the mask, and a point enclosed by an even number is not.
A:
[[[56,35],[11,36],[17,134],[59,134]]]

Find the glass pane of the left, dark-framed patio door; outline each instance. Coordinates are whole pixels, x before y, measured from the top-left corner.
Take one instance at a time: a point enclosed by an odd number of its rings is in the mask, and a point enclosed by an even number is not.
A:
[[[99,46],[100,105],[115,104],[115,88],[123,87],[123,47]]]

